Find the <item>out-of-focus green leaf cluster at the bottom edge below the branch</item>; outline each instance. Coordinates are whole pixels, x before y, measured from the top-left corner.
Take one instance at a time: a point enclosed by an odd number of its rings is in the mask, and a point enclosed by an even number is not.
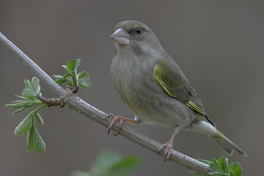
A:
[[[98,154],[90,171],[74,171],[71,176],[130,176],[140,165],[141,160],[137,156],[122,157],[116,151],[105,150]]]

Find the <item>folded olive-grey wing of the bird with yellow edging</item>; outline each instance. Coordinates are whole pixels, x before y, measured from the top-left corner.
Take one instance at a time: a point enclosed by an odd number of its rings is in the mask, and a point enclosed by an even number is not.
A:
[[[208,118],[197,93],[175,62],[165,59],[158,60],[154,66],[153,75],[166,93],[204,115],[215,126]]]

